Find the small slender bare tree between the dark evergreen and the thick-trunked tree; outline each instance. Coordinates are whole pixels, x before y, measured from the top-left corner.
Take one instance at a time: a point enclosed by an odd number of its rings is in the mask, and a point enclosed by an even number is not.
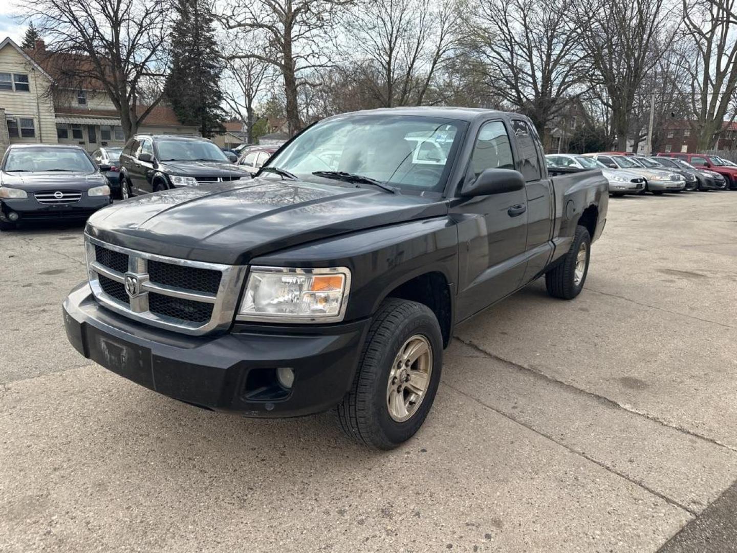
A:
[[[254,143],[254,125],[259,98],[273,85],[273,64],[261,58],[240,58],[238,52],[258,52],[262,42],[251,35],[245,40],[223,46],[226,58],[223,73],[223,97],[228,108],[245,123],[248,143]]]

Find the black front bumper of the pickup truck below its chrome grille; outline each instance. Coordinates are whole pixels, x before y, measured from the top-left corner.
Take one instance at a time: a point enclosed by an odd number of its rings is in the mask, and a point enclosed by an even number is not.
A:
[[[86,282],[69,293],[63,316],[74,349],[106,369],[168,397],[249,417],[298,417],[339,403],[371,323],[249,325],[181,335],[99,306]],[[269,388],[276,367],[293,369],[291,389]]]

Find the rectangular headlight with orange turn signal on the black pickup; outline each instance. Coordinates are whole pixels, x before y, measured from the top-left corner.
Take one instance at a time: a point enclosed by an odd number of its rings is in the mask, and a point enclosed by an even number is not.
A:
[[[252,267],[238,311],[244,321],[343,320],[351,271],[338,268]]]

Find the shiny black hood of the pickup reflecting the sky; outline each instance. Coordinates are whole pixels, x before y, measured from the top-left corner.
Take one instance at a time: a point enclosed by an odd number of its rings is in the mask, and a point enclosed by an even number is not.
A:
[[[438,198],[261,177],[118,202],[94,213],[86,232],[152,254],[246,265],[312,240],[445,214]]]

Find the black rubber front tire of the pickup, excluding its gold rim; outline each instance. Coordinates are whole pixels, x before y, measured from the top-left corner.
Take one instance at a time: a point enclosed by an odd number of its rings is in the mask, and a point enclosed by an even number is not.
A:
[[[432,370],[416,411],[404,422],[388,407],[390,371],[400,348],[421,335],[430,344]],[[443,363],[443,339],[435,314],[426,306],[388,298],[380,305],[366,336],[351,390],[336,407],[343,431],[357,442],[377,449],[396,448],[419,430],[433,406]]]

